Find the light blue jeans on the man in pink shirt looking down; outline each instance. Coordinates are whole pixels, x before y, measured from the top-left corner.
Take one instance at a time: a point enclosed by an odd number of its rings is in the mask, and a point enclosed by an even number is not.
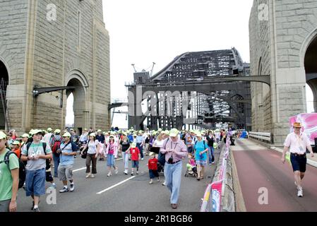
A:
[[[171,204],[177,204],[181,188],[181,161],[175,164],[165,162],[164,176],[167,189],[171,192]]]

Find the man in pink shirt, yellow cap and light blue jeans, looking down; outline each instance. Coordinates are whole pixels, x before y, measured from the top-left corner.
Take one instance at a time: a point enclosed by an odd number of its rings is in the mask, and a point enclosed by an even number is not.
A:
[[[172,129],[169,138],[160,148],[160,153],[165,154],[164,176],[167,189],[171,192],[171,206],[177,208],[179,189],[181,187],[181,160],[187,156],[187,148],[178,137],[179,131]]]

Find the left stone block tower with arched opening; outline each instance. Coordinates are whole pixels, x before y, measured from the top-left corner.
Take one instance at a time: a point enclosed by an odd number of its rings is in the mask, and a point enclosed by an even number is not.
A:
[[[56,6],[56,20],[47,20],[48,4]],[[28,19],[34,23],[28,24]],[[14,129],[22,133],[48,126],[64,128],[65,90],[63,108],[56,98],[59,92],[35,98],[32,90],[34,85],[66,86],[74,79],[73,71],[78,83],[87,86],[75,90],[85,94],[74,100],[80,127],[110,128],[109,34],[104,28],[102,0],[4,1],[0,34],[0,60],[6,61],[10,71],[8,111],[15,114]]]

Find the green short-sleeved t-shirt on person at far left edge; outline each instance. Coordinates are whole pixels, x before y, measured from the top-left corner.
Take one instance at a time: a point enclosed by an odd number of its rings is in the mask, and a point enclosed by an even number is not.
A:
[[[4,160],[4,155],[8,150],[0,155],[0,162]],[[18,157],[11,154],[9,157],[10,169],[17,169],[19,167]],[[8,169],[8,165],[5,162],[0,164],[0,201],[8,200],[12,198],[12,184],[11,171]]]

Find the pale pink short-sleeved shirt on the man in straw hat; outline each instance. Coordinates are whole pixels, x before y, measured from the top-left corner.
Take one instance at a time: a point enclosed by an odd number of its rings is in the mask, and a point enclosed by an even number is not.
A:
[[[301,133],[300,136],[297,136],[296,133],[289,133],[284,142],[284,146],[289,148],[290,153],[297,153],[303,155],[306,153],[306,148],[311,145],[309,137],[306,133]]]

